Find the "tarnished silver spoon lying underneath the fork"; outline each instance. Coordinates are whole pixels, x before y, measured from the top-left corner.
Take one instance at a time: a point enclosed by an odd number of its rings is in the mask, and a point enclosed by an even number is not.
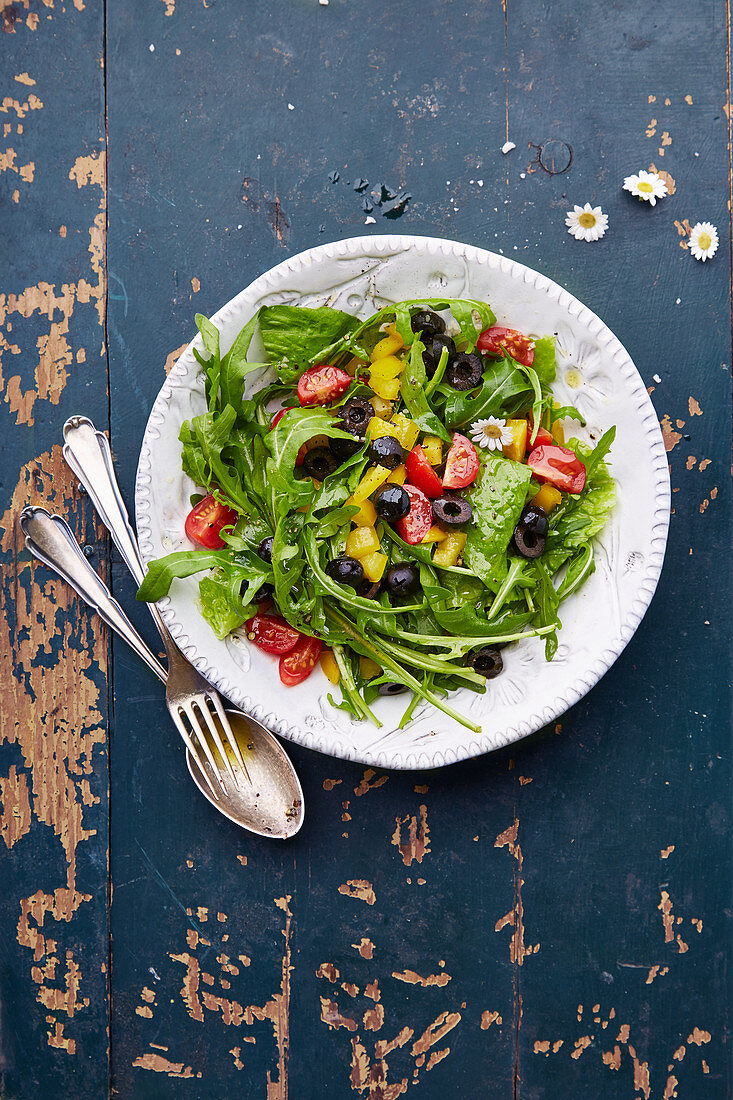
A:
[[[70,584],[165,683],[165,669],[91,568],[68,524],[61,516],[50,515],[45,508],[29,507],[21,513],[20,526],[31,553]],[[303,825],[304,806],[303,790],[289,758],[264,726],[245,717],[241,711],[228,707],[227,714],[247,760],[252,784],[242,790],[228,783],[222,792],[218,781],[225,779],[228,771],[220,752],[214,748],[204,760],[193,743],[186,748],[186,763],[192,779],[212,806],[250,833],[276,839],[294,836]],[[214,773],[212,765],[219,770],[219,776]],[[210,774],[207,774],[210,769]]]

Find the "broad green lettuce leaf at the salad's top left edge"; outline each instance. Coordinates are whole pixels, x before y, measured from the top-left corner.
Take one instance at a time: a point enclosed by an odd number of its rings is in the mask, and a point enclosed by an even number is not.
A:
[[[360,322],[351,314],[330,306],[263,306],[260,336],[267,359],[282,378],[294,381],[333,341],[353,332]]]

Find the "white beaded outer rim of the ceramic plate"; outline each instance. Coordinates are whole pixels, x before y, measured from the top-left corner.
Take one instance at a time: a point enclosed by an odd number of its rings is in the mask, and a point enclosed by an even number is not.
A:
[[[260,703],[245,695],[236,684],[232,684],[221,674],[216,664],[209,662],[206,654],[199,650],[197,645],[185,632],[185,628],[176,617],[175,608],[169,598],[166,597],[161,601],[158,608],[163,619],[178,646],[186,653],[186,657],[223,695],[230,698],[245,714],[262,722],[263,725],[271,728],[275,734],[286,737],[306,748],[341,759],[357,760],[373,767],[398,770],[439,768],[481,756],[484,752],[494,751],[497,748],[502,748],[535,733],[559,717],[582,698],[621,656],[649,606],[664,563],[671,499],[667,452],[657,415],[644,386],[644,382],[628,352],[608,326],[578,298],[553,279],[508,256],[499,255],[477,245],[464,244],[460,241],[444,238],[413,237],[408,234],[347,238],[341,241],[316,245],[276,264],[222,306],[212,317],[212,320],[215,323],[221,322],[231,312],[236,312],[240,308],[240,302],[245,296],[248,298],[252,296],[261,297],[269,289],[272,288],[274,290],[275,287],[273,284],[280,283],[283,276],[296,276],[307,266],[342,260],[344,257],[358,258],[360,255],[371,255],[372,257],[386,256],[389,254],[405,252],[416,246],[426,250],[430,255],[462,258],[469,264],[486,265],[490,270],[499,270],[503,275],[517,279],[533,289],[540,290],[564,312],[582,324],[583,329],[597,341],[598,345],[619,370],[627,387],[628,395],[638,399],[639,427],[644,431],[644,439],[648,447],[650,470],[654,480],[655,509],[650,528],[652,536],[646,548],[645,568],[643,573],[638,575],[636,592],[630,603],[628,613],[620,624],[616,645],[610,646],[599,654],[595,654],[589,661],[582,674],[576,676],[572,683],[564,692],[557,694],[551,702],[548,702],[544,707],[537,707],[529,718],[517,722],[515,726],[505,726],[501,733],[493,730],[491,736],[488,734],[474,735],[472,737],[467,736],[464,743],[455,747],[436,748],[433,750],[424,748],[419,751],[412,750],[407,752],[401,751],[398,745],[381,751],[372,751],[369,747],[354,749],[352,746],[340,745],[333,735],[328,740],[328,730],[317,733],[313,729],[303,728],[297,724],[291,724],[275,713],[266,713]],[[151,485],[153,482],[151,441],[161,438],[161,428],[165,424],[165,413],[176,383],[188,374],[190,363],[193,362],[192,346],[194,342],[192,341],[178,358],[153,404],[140,451],[135,477],[135,517],[140,549],[145,562],[150,561],[156,553],[152,541],[153,532],[151,528]]]

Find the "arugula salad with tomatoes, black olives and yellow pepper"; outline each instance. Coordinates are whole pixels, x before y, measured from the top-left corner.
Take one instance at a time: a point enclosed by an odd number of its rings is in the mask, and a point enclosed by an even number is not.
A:
[[[207,408],[179,436],[196,549],[152,562],[139,598],[203,573],[216,636],[243,631],[283,684],[320,663],[355,718],[380,726],[379,696],[405,693],[401,727],[427,701],[480,732],[451,693],[485,692],[524,638],[551,660],[614,505],[615,428],[566,439],[584,421],[553,396],[555,338],[471,299],[366,320],[263,306],[226,353],[196,323]],[[248,358],[255,332],[265,363]]]

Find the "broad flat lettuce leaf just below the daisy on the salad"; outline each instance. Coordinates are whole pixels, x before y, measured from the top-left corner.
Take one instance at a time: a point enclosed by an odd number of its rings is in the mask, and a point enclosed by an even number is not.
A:
[[[512,462],[493,451],[481,454],[463,561],[492,592],[501,588],[506,576],[506,547],[524,507],[530,477],[532,471],[522,462]]]

